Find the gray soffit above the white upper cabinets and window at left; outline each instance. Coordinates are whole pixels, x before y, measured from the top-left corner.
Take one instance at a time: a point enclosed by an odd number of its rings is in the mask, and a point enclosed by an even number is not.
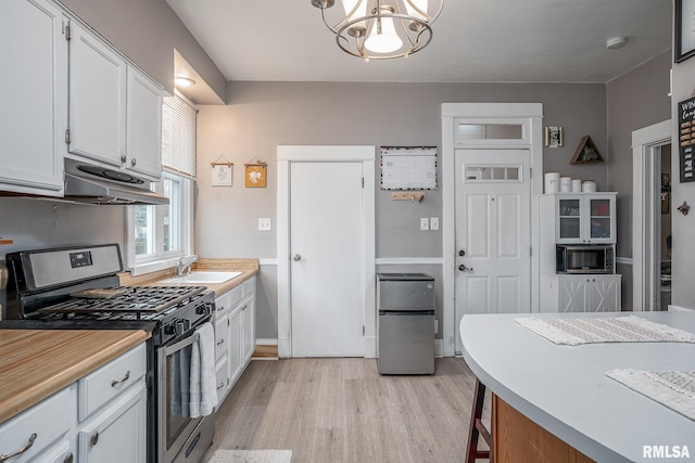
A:
[[[165,0],[61,0],[174,94],[174,49],[224,101],[227,81]]]

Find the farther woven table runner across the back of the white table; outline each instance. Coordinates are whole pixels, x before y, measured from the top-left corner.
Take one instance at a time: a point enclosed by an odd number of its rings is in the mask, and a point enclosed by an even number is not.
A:
[[[515,319],[521,326],[561,345],[591,343],[693,343],[695,334],[640,317]]]

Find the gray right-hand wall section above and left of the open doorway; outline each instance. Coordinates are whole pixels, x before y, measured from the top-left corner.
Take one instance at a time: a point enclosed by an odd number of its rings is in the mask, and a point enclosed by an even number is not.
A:
[[[665,52],[606,86],[608,189],[618,192],[618,257],[632,258],[632,132],[671,117],[669,69]],[[632,309],[632,266],[622,274],[622,307]]]

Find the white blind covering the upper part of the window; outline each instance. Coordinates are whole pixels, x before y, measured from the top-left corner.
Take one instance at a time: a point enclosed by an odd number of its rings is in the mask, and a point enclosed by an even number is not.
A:
[[[195,178],[198,110],[187,100],[165,97],[162,104],[162,164]]]

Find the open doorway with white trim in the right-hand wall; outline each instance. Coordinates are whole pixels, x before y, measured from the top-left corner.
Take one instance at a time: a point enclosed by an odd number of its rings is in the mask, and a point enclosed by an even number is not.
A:
[[[632,132],[634,311],[671,303],[671,120]]]

